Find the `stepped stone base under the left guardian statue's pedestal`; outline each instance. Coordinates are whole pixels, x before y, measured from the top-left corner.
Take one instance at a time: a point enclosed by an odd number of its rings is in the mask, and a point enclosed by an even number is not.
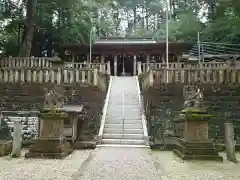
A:
[[[62,159],[73,152],[73,147],[63,138],[39,138],[30,146],[26,158]]]

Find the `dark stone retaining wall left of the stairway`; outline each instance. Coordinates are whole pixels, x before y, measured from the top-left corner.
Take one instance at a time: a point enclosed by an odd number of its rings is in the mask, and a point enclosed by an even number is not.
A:
[[[71,84],[65,88],[66,104],[83,105],[85,116],[78,122],[78,140],[90,140],[97,135],[100,126],[101,109],[106,91],[93,85]],[[40,111],[44,105],[44,94],[53,84],[13,83],[0,84],[0,111]],[[6,113],[5,113],[6,114]],[[4,116],[4,114],[3,114]],[[6,120],[11,128],[12,120],[22,120],[23,140],[34,139],[38,133],[37,117],[28,118],[7,115]]]

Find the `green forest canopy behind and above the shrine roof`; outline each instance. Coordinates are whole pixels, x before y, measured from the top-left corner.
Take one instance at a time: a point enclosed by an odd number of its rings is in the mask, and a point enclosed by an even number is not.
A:
[[[169,40],[239,44],[240,1],[169,0]],[[0,0],[4,56],[52,56],[61,43],[97,37],[165,41],[164,0]]]

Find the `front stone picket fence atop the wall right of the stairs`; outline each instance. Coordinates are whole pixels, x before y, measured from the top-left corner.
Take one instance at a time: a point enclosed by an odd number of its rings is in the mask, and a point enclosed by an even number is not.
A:
[[[239,84],[240,68],[150,68],[142,76],[142,87],[157,84]]]

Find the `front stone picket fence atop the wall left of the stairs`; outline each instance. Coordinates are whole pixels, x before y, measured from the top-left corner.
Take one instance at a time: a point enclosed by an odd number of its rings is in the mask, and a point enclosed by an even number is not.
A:
[[[0,82],[3,83],[88,83],[105,89],[106,79],[97,68],[0,68]]]

